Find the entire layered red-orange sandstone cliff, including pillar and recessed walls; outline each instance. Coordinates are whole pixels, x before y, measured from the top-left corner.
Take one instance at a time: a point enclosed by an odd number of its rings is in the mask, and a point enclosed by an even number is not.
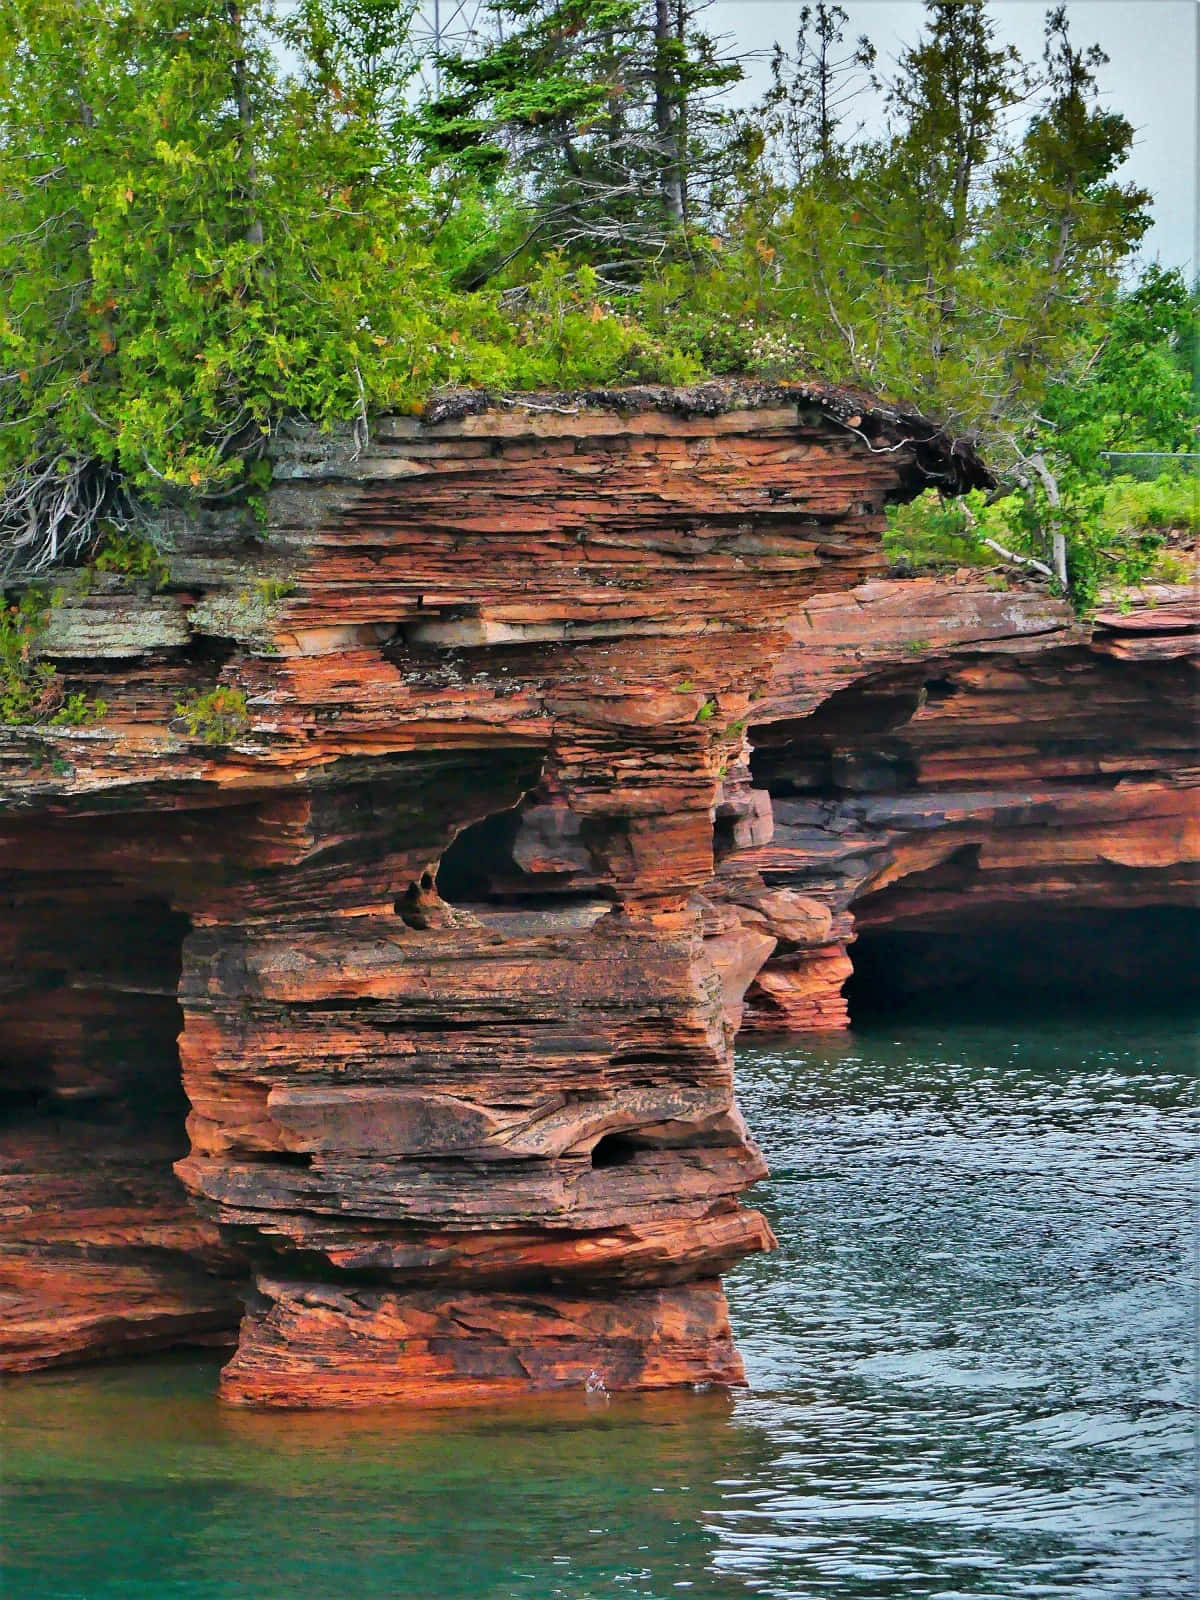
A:
[[[856,931],[1182,909],[1192,621],[878,578],[888,499],[986,472],[848,392],[280,453],[259,536],[56,608],[104,722],[0,738],[0,1366],[230,1334],[253,1278],[242,1403],[738,1382],[747,989],[842,1026]]]

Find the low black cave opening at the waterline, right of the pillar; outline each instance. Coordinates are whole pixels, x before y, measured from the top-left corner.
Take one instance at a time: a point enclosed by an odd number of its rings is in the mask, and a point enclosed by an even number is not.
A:
[[[968,910],[862,926],[850,957],[851,1024],[1173,1010],[1200,1000],[1200,907]]]

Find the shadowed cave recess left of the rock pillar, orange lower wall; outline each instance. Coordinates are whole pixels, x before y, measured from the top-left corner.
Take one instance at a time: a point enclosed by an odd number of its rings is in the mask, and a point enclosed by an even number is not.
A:
[[[173,1170],[190,920],[85,869],[0,906],[0,1371],[230,1342],[240,1267]]]

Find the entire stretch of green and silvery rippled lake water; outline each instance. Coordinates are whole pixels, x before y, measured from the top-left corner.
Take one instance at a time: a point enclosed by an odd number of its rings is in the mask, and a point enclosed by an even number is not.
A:
[[[11,1384],[3,1600],[1192,1597],[1194,1034],[746,1050],[754,1390],[261,1416],[173,1357]]]

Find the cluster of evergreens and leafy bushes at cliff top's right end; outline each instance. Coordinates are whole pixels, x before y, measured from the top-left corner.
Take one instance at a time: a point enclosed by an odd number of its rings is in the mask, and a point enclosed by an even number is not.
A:
[[[1074,45],[1062,8],[1035,67],[995,43],[981,0],[928,0],[888,85],[888,136],[856,142],[838,115],[872,54],[843,43],[845,19],[806,11],[795,59],[776,56],[746,205],[691,278],[661,275],[648,322],[714,370],[853,379],[938,414],[1018,491],[1019,515],[976,533],[923,506],[893,517],[893,555],[994,562],[979,536],[1000,534],[1086,606],[1144,560],[1096,526],[1101,451],[1178,450],[1200,421],[1195,296],[1158,269],[1120,290],[1149,195],[1115,178],[1133,128],[1096,99],[1104,58]]]

